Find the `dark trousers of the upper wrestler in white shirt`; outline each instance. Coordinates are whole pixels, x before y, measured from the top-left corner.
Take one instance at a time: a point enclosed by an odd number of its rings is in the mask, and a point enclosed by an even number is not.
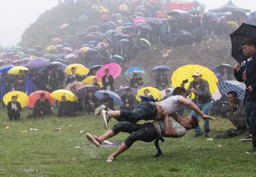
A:
[[[134,111],[120,110],[120,117],[114,117],[119,122],[137,123],[140,120],[153,120],[157,115],[157,106],[149,102],[140,103]]]

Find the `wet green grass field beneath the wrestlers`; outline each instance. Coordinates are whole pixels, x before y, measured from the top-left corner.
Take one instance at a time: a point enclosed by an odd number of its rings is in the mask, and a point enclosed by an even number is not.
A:
[[[165,138],[166,141],[160,143],[162,157],[150,156],[156,153],[153,142],[135,142],[114,163],[107,163],[108,156],[117,147],[88,146],[90,142],[84,136],[86,132],[95,135],[105,132],[99,116],[26,118],[31,112],[24,109],[21,120],[9,121],[6,109],[0,109],[1,177],[256,176],[256,153],[245,153],[252,148],[252,142],[240,141],[245,134],[207,141],[206,137],[193,138],[194,130],[190,130],[182,138]],[[109,127],[116,122],[112,119]],[[10,128],[6,130],[6,126]],[[211,137],[233,128],[227,119],[218,117],[211,121],[210,127]],[[29,128],[39,130],[29,131]],[[20,133],[24,130],[28,133]],[[81,130],[84,133],[80,134]],[[125,140],[127,136],[120,133],[109,141]]]

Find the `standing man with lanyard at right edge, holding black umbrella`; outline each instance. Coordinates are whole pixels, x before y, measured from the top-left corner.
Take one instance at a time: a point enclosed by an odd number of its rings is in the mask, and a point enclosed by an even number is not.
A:
[[[248,59],[241,64],[242,66],[236,64],[233,69],[236,80],[244,82],[246,86],[244,110],[246,123],[250,134],[253,135],[253,148],[247,152],[251,153],[256,152],[256,40],[244,40],[242,50]]]

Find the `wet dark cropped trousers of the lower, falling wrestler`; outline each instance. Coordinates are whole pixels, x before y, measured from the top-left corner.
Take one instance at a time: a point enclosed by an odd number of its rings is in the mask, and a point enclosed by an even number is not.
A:
[[[119,132],[129,133],[130,135],[124,141],[125,145],[131,147],[131,145],[137,141],[151,142],[157,139],[157,132],[154,128],[153,123],[130,123],[130,122],[119,122],[114,125],[111,130],[114,134]]]

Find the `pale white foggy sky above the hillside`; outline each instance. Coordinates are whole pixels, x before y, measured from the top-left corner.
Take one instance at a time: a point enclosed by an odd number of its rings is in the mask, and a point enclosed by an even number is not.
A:
[[[207,11],[223,6],[228,1],[198,0],[207,6]],[[243,9],[256,11],[256,0],[233,0],[233,3]],[[0,0],[0,46],[15,46],[29,24],[54,6],[58,6],[58,0]]]

